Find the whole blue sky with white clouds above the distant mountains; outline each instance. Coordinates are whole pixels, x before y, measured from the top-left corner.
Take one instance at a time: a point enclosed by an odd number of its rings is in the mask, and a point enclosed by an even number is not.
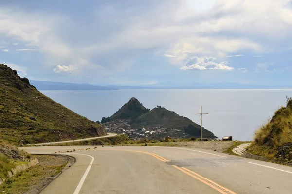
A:
[[[3,0],[0,63],[95,85],[292,85],[290,0]]]

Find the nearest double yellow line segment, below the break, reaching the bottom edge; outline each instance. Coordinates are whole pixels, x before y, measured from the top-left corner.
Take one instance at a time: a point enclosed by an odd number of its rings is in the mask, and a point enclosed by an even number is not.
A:
[[[185,174],[191,176],[192,178],[196,178],[197,180],[201,181],[202,183],[208,185],[209,187],[219,191],[221,194],[237,194],[237,193],[215,183],[214,181],[209,180],[208,178],[204,178],[203,176],[201,176],[193,171],[190,171],[187,168],[184,168],[184,167],[181,168],[181,167],[178,167],[176,165],[172,165],[172,166],[175,167],[176,169],[184,172]],[[193,174],[191,174],[191,173],[193,173]]]

